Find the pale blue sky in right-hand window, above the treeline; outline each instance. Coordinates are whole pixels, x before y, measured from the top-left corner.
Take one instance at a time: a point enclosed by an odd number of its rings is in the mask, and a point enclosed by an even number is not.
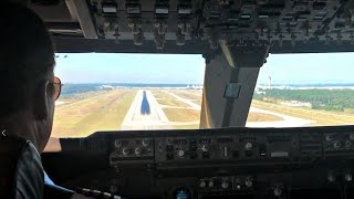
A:
[[[271,54],[261,67],[258,83],[354,83],[354,53]]]

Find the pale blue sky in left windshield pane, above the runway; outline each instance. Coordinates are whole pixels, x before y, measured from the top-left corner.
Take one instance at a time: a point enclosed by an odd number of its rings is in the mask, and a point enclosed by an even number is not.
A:
[[[63,83],[202,84],[205,60],[177,54],[56,54]]]

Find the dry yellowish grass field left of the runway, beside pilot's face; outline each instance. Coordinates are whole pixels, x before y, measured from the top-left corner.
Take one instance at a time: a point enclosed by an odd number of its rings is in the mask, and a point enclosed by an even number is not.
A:
[[[76,102],[77,97],[69,100],[71,103],[55,109],[52,137],[82,137],[96,130],[119,129],[136,93],[122,88],[91,93],[91,97]]]

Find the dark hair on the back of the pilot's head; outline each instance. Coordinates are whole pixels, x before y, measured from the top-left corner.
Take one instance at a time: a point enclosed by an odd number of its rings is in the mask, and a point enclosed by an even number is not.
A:
[[[29,107],[39,81],[53,71],[54,49],[43,21],[25,7],[0,9],[0,118]]]

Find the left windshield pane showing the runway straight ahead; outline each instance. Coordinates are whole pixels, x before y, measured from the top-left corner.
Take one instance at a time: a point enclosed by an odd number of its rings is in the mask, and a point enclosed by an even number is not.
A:
[[[199,128],[204,73],[200,54],[56,54],[52,137]]]

